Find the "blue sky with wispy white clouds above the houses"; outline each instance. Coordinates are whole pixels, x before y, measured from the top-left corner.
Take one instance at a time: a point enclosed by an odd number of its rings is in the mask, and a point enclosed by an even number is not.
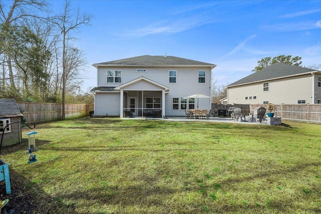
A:
[[[64,1],[53,3],[59,10]],[[94,16],[74,33],[87,61],[85,91],[96,86],[94,63],[165,55],[213,63],[213,82],[252,73],[263,57],[302,57],[321,64],[321,1],[71,1]]]

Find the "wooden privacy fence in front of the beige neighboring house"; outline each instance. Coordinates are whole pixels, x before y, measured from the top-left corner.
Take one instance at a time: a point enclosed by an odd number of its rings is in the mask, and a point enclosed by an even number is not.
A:
[[[256,107],[267,105],[249,105],[251,113]],[[280,116],[284,120],[294,120],[310,123],[321,123],[320,104],[280,104],[275,105],[274,116]]]

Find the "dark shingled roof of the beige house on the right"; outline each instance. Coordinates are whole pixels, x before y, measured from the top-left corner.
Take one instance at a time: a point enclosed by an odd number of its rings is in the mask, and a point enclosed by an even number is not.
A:
[[[227,87],[266,81],[270,79],[278,79],[288,76],[295,76],[309,72],[315,72],[315,70],[283,63],[274,63],[266,68],[263,68],[260,71],[254,72],[253,74],[228,85]]]

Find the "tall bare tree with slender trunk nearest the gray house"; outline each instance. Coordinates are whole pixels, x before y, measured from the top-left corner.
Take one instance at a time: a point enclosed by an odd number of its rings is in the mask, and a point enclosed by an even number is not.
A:
[[[91,16],[81,14],[79,9],[76,14],[73,13],[70,1],[65,1],[63,14],[57,17],[56,25],[61,30],[62,35],[62,120],[65,119],[65,104],[66,104],[66,86],[68,80],[68,48],[70,41],[75,39],[72,37],[72,32],[79,29],[81,25],[89,25]]]

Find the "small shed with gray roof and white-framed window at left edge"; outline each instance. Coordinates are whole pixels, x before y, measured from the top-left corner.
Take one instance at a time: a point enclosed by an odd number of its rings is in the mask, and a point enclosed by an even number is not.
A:
[[[24,115],[15,99],[0,99],[0,140],[7,124],[20,121]],[[21,143],[21,123],[11,124],[6,128],[3,138],[3,146]]]

